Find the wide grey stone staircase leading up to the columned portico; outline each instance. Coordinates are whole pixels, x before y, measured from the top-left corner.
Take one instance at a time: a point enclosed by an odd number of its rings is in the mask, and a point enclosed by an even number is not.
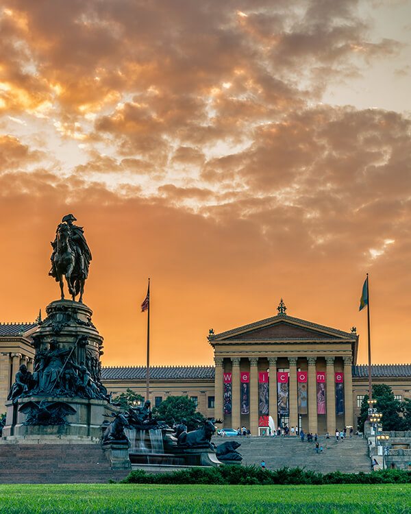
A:
[[[321,473],[371,472],[367,441],[356,436],[348,437],[343,443],[336,442],[335,437],[319,436],[322,454],[316,454],[315,443],[301,442],[299,437],[213,437],[212,441],[216,445],[225,441],[241,443],[238,452],[242,454],[242,465],[245,466],[260,467],[264,460],[267,469],[288,466],[306,467]]]

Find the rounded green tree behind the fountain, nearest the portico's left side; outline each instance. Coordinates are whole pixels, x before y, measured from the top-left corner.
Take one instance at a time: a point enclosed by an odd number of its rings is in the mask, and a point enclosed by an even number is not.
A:
[[[184,418],[187,420],[187,429],[195,430],[198,427],[197,420],[206,420],[196,409],[195,402],[189,400],[188,396],[167,396],[157,408],[153,409],[153,414],[169,426],[173,426],[175,421],[181,423]]]

